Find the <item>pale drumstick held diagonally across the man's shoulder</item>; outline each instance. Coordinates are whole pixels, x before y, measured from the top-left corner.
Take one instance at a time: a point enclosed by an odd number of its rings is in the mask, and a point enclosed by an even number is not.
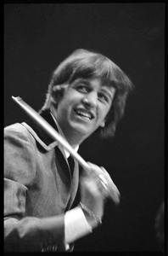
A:
[[[53,126],[49,125],[48,122],[42,118],[42,116],[37,113],[31,106],[29,106],[26,102],[24,102],[20,96],[14,97],[12,96],[12,99],[14,102],[18,103],[22,109],[25,110],[25,113],[27,113],[31,119],[33,119],[38,125],[42,127],[44,131],[48,133],[50,137],[52,137],[54,140],[56,140],[61,146],[63,146],[71,156],[74,157],[78,161],[78,163],[85,169],[87,172],[91,172],[92,168],[87,164],[87,162],[81,157],[80,154],[78,154],[74,148],[70,146],[70,144],[62,137],[59,132],[57,132]],[[102,178],[103,175],[98,175],[102,182],[104,183],[104,180]],[[111,181],[112,182],[112,181]],[[106,181],[107,183],[107,181]],[[114,183],[113,183],[114,187]],[[116,188],[115,188],[116,189]],[[119,202],[119,191],[115,191],[115,189],[112,189],[112,186],[109,184],[109,197],[115,201],[115,203]],[[118,190],[118,189],[117,189]]]

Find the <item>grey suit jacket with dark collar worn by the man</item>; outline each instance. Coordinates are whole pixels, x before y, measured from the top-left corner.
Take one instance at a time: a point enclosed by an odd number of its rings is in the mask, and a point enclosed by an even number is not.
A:
[[[57,129],[48,111],[41,113]],[[4,250],[64,251],[64,212],[79,183],[58,143],[31,120],[4,129]]]

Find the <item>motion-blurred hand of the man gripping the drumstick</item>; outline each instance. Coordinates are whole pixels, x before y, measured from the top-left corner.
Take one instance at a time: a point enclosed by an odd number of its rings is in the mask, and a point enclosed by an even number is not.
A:
[[[118,203],[120,192],[104,167],[88,165],[91,171],[83,170],[81,175],[81,203],[102,218],[105,199],[110,197]]]

